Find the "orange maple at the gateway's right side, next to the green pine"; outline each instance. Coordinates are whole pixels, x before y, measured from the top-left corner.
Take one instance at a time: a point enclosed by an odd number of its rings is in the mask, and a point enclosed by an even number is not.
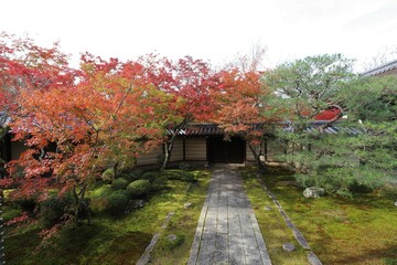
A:
[[[247,140],[253,156],[260,167],[265,123],[275,117],[267,116],[264,98],[268,91],[257,72],[232,68],[221,72],[222,89],[214,91],[216,102],[214,121],[224,129],[226,140],[239,136]]]

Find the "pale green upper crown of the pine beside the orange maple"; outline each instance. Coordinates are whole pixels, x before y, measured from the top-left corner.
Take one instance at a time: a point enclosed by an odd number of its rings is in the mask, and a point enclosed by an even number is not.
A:
[[[296,127],[304,126],[330,105],[337,104],[339,91],[354,78],[351,71],[352,61],[340,54],[308,56],[281,64],[264,75],[269,88],[282,95],[266,98],[267,104],[282,110],[286,119],[301,123]]]

